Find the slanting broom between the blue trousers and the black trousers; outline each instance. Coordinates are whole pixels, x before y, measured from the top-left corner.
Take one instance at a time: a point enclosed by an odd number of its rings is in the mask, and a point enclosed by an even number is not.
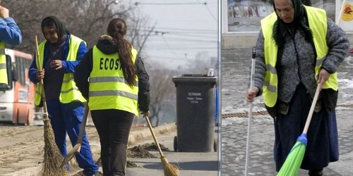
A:
[[[82,120],[81,127],[80,127],[80,133],[78,134],[78,139],[77,139],[76,145],[73,146],[71,151],[67,153],[64,160],[61,162],[61,167],[66,165],[66,163],[68,163],[68,161],[71,161],[73,156],[75,156],[77,153],[80,153],[80,149],[81,149],[82,141],[83,141],[83,132],[85,132],[85,126],[86,126],[86,122],[87,122],[87,118],[88,118],[88,111],[89,111],[89,108],[88,108],[88,101],[87,101],[87,103],[85,104],[85,113],[83,115],[83,120]]]

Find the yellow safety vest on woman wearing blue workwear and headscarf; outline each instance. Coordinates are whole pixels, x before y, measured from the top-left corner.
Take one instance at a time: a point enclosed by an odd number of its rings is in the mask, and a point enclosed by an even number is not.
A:
[[[44,46],[47,41],[44,40],[40,46],[40,63],[41,65],[44,65]],[[70,39],[69,39],[69,51],[68,51],[68,56],[66,58],[66,61],[76,61],[76,56],[78,49],[80,48],[80,43],[84,42],[82,39],[74,36],[73,34],[70,34]],[[84,42],[85,43],[85,42]],[[86,44],[86,43],[85,43]],[[36,58],[37,59],[37,58]],[[39,68],[39,65],[37,65],[37,68]],[[45,84],[45,82],[44,82]],[[38,106],[40,105],[40,101],[42,99],[42,87],[37,86],[37,89],[35,90],[35,105]],[[61,92],[59,96],[59,100],[61,103],[70,103],[72,101],[80,101],[80,102],[85,102],[85,98],[83,98],[81,92],[78,90],[76,87],[76,83],[73,80],[73,73],[65,73],[64,74],[64,79],[63,83],[61,84]]]

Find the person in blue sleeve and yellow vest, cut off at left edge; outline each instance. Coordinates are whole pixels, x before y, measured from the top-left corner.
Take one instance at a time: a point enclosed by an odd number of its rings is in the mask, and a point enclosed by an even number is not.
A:
[[[5,49],[5,44],[16,46],[21,42],[22,34],[18,25],[15,20],[8,15],[8,9],[0,5],[0,50]],[[0,51],[0,87],[7,87],[7,85],[6,56]]]

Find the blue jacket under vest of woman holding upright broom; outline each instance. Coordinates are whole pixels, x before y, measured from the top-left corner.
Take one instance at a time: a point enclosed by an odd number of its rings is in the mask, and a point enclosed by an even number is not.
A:
[[[76,61],[66,61],[66,58],[68,56],[68,50],[69,50],[69,48],[68,48],[69,47],[68,46],[69,39],[70,39],[70,34],[68,34],[68,37],[66,37],[63,54],[61,55],[61,56],[63,56],[61,58],[61,63],[62,63],[61,70],[63,71],[63,73],[74,73],[76,65],[78,65],[78,63],[80,63],[81,59],[83,58],[83,55],[85,55],[85,53],[88,51],[85,43],[81,42],[80,47],[78,48],[77,55],[76,55]],[[44,46],[44,64],[43,65],[45,65],[46,62],[48,61],[48,56],[49,56],[49,48],[48,47],[49,47],[49,42],[45,43],[45,46]],[[40,81],[37,80],[37,77],[35,76],[37,73],[37,65],[35,63],[36,63],[36,58],[33,59],[32,64],[30,65],[30,70],[28,71],[28,77],[30,78],[31,82],[37,84]]]

